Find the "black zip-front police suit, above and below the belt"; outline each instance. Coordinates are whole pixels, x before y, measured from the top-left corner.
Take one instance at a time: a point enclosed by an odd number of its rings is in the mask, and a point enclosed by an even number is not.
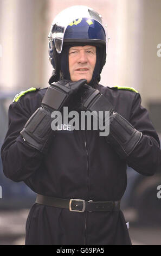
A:
[[[118,201],[126,189],[126,165],[153,175],[160,165],[160,144],[140,94],[131,90],[97,89],[114,111],[143,133],[132,154],[121,160],[98,131],[53,132],[46,155],[30,147],[20,135],[30,116],[41,106],[47,88],[29,92],[9,107],[9,129],[2,146],[4,174],[24,181],[36,193],[86,201]],[[70,212],[34,204],[26,225],[26,244],[129,245],[123,212]]]

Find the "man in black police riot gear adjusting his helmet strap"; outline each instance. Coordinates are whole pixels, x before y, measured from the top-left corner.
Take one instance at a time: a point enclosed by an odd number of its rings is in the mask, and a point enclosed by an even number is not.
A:
[[[50,86],[16,95],[1,156],[5,176],[37,193],[26,224],[26,245],[130,245],[120,200],[126,165],[153,175],[160,144],[140,94],[99,84],[106,60],[101,16],[70,7],[56,16],[49,34],[54,72]],[[110,134],[52,130],[63,107],[108,111]],[[96,117],[95,117],[96,118]]]

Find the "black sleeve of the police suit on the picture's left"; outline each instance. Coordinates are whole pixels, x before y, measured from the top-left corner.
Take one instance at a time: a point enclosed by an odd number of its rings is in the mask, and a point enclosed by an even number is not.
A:
[[[7,178],[19,182],[27,179],[41,165],[42,153],[30,147],[20,135],[32,113],[23,101],[11,103],[9,127],[1,148],[3,172]]]

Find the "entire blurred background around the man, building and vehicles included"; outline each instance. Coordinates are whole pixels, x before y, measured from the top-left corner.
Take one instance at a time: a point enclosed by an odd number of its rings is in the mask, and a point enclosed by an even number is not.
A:
[[[47,87],[52,72],[48,33],[55,15],[78,0],[0,0],[0,147],[14,95]],[[100,83],[134,87],[161,135],[161,0],[82,0],[98,11],[110,38]],[[160,136],[161,138],[161,136]],[[0,159],[0,245],[24,244],[25,221],[35,194],[4,177]],[[127,169],[122,209],[134,245],[161,245],[161,170],[152,177]]]

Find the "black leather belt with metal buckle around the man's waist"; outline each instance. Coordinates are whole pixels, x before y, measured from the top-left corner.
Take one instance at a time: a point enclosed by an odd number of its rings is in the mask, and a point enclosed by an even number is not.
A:
[[[82,199],[68,200],[62,198],[43,196],[42,194],[37,194],[35,203],[53,206],[56,208],[69,209],[69,211],[77,212],[119,211],[120,209],[120,201],[93,202],[92,200],[89,200],[88,202],[86,202],[85,200]]]

